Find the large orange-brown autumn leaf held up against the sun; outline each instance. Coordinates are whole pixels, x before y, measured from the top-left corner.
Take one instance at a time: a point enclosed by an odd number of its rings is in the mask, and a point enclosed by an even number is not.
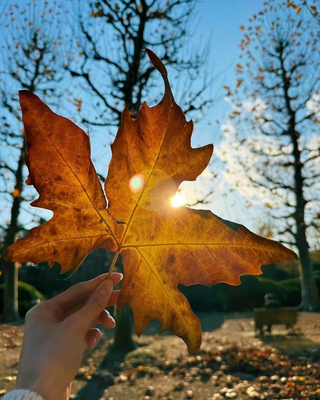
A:
[[[210,211],[170,205],[180,183],[195,180],[206,168],[213,146],[191,148],[193,123],[174,101],[166,68],[146,51],[162,75],[165,94],[152,108],[142,104],[136,120],[124,108],[105,182],[107,211],[88,136],[34,94],[20,92],[27,183],[39,192],[32,205],[53,210],[54,216],[10,246],[6,257],[58,261],[65,272],[94,248],[116,251],[114,260],[120,253],[124,265],[118,310],[131,305],[137,334],[158,319],[162,331],[172,331],[196,352],[200,322],[178,283],[236,285],[241,274],[260,274],[262,264],[296,254]]]

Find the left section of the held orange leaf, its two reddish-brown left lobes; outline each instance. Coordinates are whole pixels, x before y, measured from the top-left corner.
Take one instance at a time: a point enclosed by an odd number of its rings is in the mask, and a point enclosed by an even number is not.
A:
[[[58,261],[66,272],[78,268],[95,248],[116,251],[115,224],[106,211],[88,135],[32,92],[22,90],[19,96],[28,148],[26,183],[39,193],[31,204],[54,215],[10,246],[7,257],[34,264],[48,261],[50,266]]]

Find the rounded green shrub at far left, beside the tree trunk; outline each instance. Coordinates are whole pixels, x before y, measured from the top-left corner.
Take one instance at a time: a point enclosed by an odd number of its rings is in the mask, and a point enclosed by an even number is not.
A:
[[[0,313],[3,311],[4,283],[0,285]],[[18,282],[18,308],[21,317],[35,306],[39,301],[45,300],[44,295],[34,286],[26,282]]]

